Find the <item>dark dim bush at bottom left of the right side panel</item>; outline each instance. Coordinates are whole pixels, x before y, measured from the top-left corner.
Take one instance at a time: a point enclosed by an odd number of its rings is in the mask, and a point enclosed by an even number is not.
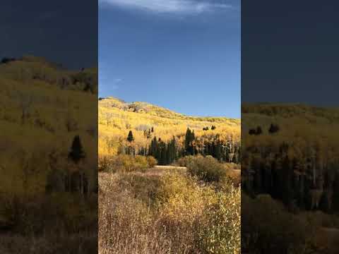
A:
[[[314,216],[291,214],[270,195],[255,199],[242,193],[244,250],[265,253],[312,253],[321,222]],[[315,248],[312,250],[312,248]]]

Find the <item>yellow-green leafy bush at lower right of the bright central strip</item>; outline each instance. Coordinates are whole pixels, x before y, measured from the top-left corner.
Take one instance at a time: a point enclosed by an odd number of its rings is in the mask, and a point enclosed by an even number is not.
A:
[[[160,210],[173,241],[186,239],[197,253],[240,253],[239,188],[231,184],[227,192],[219,192],[182,174],[162,181]]]

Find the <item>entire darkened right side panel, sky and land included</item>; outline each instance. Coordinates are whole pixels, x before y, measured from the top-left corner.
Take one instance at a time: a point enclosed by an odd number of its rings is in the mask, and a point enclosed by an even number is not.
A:
[[[339,253],[338,11],[242,1],[242,253]]]

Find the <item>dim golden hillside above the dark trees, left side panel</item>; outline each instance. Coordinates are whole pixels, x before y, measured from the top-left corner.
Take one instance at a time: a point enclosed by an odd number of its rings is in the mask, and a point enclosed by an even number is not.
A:
[[[23,56],[1,61],[0,84],[0,169],[6,176],[1,177],[0,192],[27,192],[23,169],[34,164],[29,192],[43,193],[54,167],[65,169],[76,135],[95,168],[97,70],[69,71],[40,57]],[[52,155],[59,158],[58,165],[50,161]]]

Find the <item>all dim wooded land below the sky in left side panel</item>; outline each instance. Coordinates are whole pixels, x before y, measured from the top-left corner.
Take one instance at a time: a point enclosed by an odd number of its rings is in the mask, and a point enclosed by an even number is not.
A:
[[[97,248],[97,70],[4,58],[0,83],[0,253],[64,253],[65,245],[90,253]]]

